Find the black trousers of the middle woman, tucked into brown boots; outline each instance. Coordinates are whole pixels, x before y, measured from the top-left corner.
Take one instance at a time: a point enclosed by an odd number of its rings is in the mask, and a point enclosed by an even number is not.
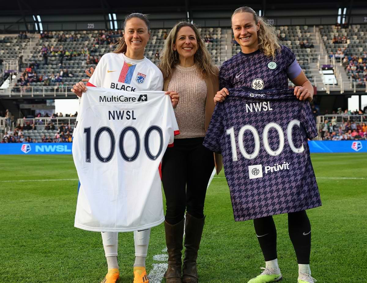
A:
[[[204,201],[214,154],[203,146],[204,138],[175,139],[162,161],[162,182],[166,195],[166,221],[179,223],[187,210],[196,218],[204,217]]]

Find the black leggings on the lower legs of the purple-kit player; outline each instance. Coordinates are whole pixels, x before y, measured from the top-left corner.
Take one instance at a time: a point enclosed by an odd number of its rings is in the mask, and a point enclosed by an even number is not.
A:
[[[254,219],[254,227],[265,261],[277,258],[276,227],[272,216]],[[288,233],[298,264],[310,263],[311,225],[306,211],[288,213]]]

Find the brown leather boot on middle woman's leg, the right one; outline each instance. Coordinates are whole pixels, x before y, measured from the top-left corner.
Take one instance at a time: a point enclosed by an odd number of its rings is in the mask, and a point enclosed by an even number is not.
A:
[[[185,258],[183,260],[182,282],[196,283],[197,269],[196,259],[199,250],[201,234],[203,234],[205,216],[201,219],[196,218],[189,213],[186,213],[185,227]]]

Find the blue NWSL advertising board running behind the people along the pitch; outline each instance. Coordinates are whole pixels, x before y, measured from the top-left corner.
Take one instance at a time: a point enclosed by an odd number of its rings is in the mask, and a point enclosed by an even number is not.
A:
[[[0,144],[1,154],[72,154],[72,143]],[[367,152],[367,141],[309,141],[311,153]]]

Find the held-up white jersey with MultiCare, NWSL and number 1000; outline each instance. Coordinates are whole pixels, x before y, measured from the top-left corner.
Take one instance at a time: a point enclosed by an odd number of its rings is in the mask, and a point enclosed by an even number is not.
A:
[[[164,221],[160,162],[179,134],[170,96],[88,87],[73,133],[75,227],[144,230]]]

